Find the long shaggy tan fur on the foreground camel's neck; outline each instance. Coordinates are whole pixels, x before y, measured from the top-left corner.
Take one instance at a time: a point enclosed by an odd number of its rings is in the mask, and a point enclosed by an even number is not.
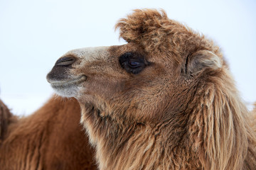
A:
[[[255,132],[232,77],[205,82],[196,94],[188,89],[185,111],[156,125],[126,124],[82,104],[100,169],[254,169]]]

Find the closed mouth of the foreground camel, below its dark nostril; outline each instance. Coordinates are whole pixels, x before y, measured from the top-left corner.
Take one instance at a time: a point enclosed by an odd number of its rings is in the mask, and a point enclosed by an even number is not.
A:
[[[70,86],[78,86],[82,82],[86,81],[87,77],[85,75],[81,75],[80,77],[74,79],[64,79],[64,80],[52,80],[48,79],[48,82],[53,87],[53,89],[65,89]]]

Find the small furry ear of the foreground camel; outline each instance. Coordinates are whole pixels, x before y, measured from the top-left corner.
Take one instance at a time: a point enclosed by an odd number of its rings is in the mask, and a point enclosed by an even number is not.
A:
[[[188,56],[186,62],[186,73],[193,76],[205,69],[216,70],[222,67],[222,60],[218,55],[208,50],[199,50]]]

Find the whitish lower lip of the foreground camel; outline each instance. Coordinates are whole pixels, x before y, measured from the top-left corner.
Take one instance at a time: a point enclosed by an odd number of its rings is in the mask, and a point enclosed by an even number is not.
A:
[[[82,75],[78,77],[77,79],[68,79],[64,81],[53,81],[50,82],[50,85],[53,88],[58,88],[58,87],[68,87],[68,86],[73,86],[73,85],[78,85],[82,83],[83,81],[86,81],[87,77],[85,75]]]

